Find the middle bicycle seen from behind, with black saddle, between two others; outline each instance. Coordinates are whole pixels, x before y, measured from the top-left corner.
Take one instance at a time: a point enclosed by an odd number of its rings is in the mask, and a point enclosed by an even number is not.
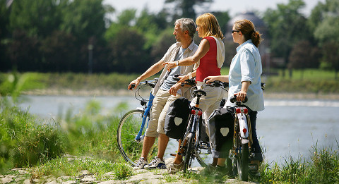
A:
[[[194,80],[194,79],[191,79]],[[188,81],[191,85],[193,82]],[[195,82],[194,82],[195,83]],[[208,85],[212,87],[228,87],[226,82],[220,82],[218,80],[210,82]],[[200,99],[202,95],[206,96],[206,92],[203,90],[194,90],[194,97],[196,97],[196,105],[191,107],[191,114],[189,115],[189,121],[187,124],[186,132],[182,139],[180,149],[182,149],[182,156],[184,156],[184,173],[191,166],[194,158],[198,161],[201,166],[206,167],[208,163],[212,161],[211,148],[209,140],[203,140],[202,135],[206,134],[202,125],[202,114],[203,112],[199,109]]]

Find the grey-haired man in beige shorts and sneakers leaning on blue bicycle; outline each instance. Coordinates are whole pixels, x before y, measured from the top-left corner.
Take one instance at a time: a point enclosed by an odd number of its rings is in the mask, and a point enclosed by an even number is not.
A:
[[[146,78],[160,72],[163,68],[166,68],[165,65],[162,65],[162,63],[168,61],[179,61],[180,59],[193,56],[198,49],[198,45],[196,45],[193,40],[195,32],[196,24],[193,19],[180,18],[176,20],[174,23],[173,35],[175,35],[177,42],[169,47],[166,54],[162,57],[162,59],[160,59],[160,61],[153,64],[153,66],[150,66],[150,68],[136,78],[136,80],[131,81],[128,89],[131,89],[133,84],[138,86],[142,80],[145,80]],[[160,79],[157,81],[152,92],[152,94],[155,95],[155,98],[153,99],[153,106],[150,111],[150,122],[148,123],[148,128],[146,129],[143,140],[141,158],[138,160],[133,169],[166,168],[163,157],[169,140],[169,137],[165,135],[164,131],[167,109],[169,104],[179,97],[186,97],[187,99],[191,98],[189,92],[190,87],[182,87],[179,82],[174,80],[173,77],[176,74],[184,74],[179,76],[181,80],[193,78],[196,75],[196,68],[198,68],[198,63],[194,66],[177,66],[172,68],[170,71],[167,71],[166,69],[162,70]],[[148,163],[148,153],[154,145],[156,137],[158,137],[157,157]]]

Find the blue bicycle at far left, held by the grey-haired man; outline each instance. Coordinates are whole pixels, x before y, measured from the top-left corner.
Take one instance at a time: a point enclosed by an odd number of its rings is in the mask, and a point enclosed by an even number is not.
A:
[[[154,99],[152,92],[150,92],[148,100],[144,99],[141,97],[139,90],[148,86],[154,88],[157,80],[158,79],[155,78],[154,80],[140,82],[134,96],[141,102],[141,106],[143,107],[137,107],[124,114],[117,128],[117,142],[120,153],[131,166],[136,166],[136,162],[132,160],[138,159],[141,155],[143,138],[145,137],[145,130],[150,121],[150,109]],[[131,89],[134,87],[135,85],[132,85]],[[157,145],[157,142],[155,142],[155,145]],[[157,147],[150,150],[151,156],[153,156],[152,154],[155,154],[156,151]]]

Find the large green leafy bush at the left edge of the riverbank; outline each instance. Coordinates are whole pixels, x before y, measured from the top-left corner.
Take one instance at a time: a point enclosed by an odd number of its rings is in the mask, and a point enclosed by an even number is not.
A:
[[[0,165],[23,167],[48,161],[64,154],[64,134],[52,125],[36,123],[34,116],[4,98],[0,106]]]

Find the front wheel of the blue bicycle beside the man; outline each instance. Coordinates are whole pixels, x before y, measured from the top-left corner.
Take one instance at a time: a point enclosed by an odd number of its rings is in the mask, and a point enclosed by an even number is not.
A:
[[[131,165],[136,166],[136,161],[141,157],[143,149],[143,136],[148,125],[149,116],[147,116],[145,125],[142,129],[141,140],[136,140],[141,124],[143,122],[143,111],[136,109],[127,112],[120,120],[117,130],[117,142],[122,157]],[[157,140],[155,146],[150,149],[150,156],[155,157],[157,151]]]

